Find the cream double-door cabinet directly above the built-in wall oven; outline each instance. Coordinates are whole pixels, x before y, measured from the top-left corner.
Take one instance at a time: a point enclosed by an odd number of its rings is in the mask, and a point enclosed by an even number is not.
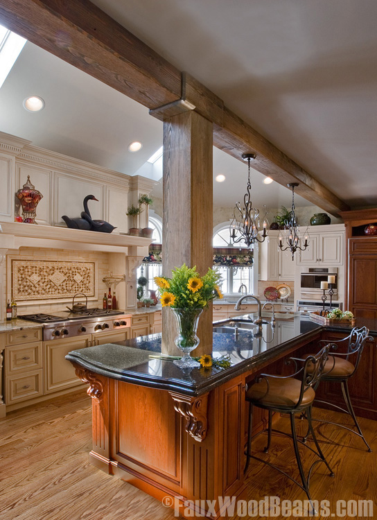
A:
[[[303,234],[306,228],[301,228]],[[343,224],[327,226],[311,226],[309,245],[296,255],[299,266],[342,266],[344,264],[344,234]]]

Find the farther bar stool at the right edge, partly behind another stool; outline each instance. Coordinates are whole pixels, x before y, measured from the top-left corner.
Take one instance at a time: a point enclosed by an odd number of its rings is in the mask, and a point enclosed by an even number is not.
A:
[[[337,341],[331,341],[330,348],[331,351],[337,350],[342,345],[347,345],[347,352],[340,353],[340,352],[331,352],[331,354],[328,356],[328,360],[326,362],[326,365],[324,367],[324,371],[322,372],[322,376],[320,377],[319,381],[317,382],[317,385],[315,386],[315,390],[317,390],[318,385],[320,381],[331,381],[331,382],[337,382],[340,383],[342,388],[342,395],[344,398],[344,402],[347,406],[347,410],[344,410],[344,408],[341,408],[340,406],[337,406],[336,404],[333,404],[329,401],[323,401],[322,399],[315,399],[316,403],[323,403],[328,404],[330,406],[333,406],[334,408],[337,408],[337,410],[342,411],[343,413],[347,413],[348,415],[351,415],[353,422],[357,428],[358,431],[352,430],[348,426],[344,426],[344,424],[338,424],[336,422],[331,421],[325,421],[322,419],[313,419],[315,421],[324,422],[327,424],[335,424],[335,426],[340,426],[341,428],[345,428],[346,430],[351,431],[352,433],[355,433],[355,435],[358,435],[358,437],[361,437],[362,440],[365,442],[368,451],[371,451],[371,447],[367,443],[367,440],[365,440],[364,435],[362,434],[361,428],[358,424],[358,419],[356,419],[355,412],[353,411],[352,403],[351,403],[351,397],[349,395],[349,388],[348,388],[348,381],[349,379],[355,374],[358,365],[360,363],[360,358],[362,354],[362,350],[364,349],[364,345],[366,341],[373,341],[373,338],[371,336],[368,336],[369,330],[367,327],[361,327],[358,329],[357,327],[354,327],[347,338],[343,338],[342,340]],[[326,340],[322,340],[326,341]],[[308,354],[308,356],[311,356],[312,354]],[[351,359],[351,361],[349,361]],[[310,370],[310,369],[309,369]],[[306,438],[308,437],[309,431],[306,433],[305,437],[303,437],[303,442],[306,442]]]

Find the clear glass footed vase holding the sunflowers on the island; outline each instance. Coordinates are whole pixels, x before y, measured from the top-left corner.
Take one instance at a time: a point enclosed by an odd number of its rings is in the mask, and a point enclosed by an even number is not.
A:
[[[198,323],[203,309],[171,309],[177,320],[178,336],[174,343],[184,355],[181,359],[175,359],[174,363],[179,368],[200,367],[200,363],[191,358],[190,352],[198,347],[200,339],[196,335]]]

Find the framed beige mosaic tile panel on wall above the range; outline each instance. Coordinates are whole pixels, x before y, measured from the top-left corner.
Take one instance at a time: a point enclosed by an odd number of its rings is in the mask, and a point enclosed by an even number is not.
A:
[[[56,300],[76,293],[94,296],[95,263],[12,259],[12,293],[15,300]]]

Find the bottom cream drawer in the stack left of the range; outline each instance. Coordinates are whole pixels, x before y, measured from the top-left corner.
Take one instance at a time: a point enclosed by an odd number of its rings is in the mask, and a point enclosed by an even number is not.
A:
[[[6,404],[38,397],[43,393],[42,368],[6,377]]]

